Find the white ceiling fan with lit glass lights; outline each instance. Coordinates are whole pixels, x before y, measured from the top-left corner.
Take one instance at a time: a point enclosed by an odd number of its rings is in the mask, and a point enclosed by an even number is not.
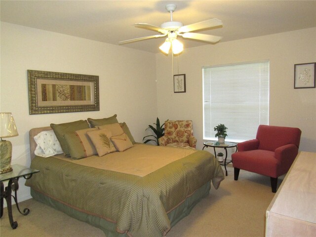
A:
[[[149,40],[149,39],[162,38],[162,37],[167,36],[167,39],[159,47],[159,49],[163,51],[164,53],[168,54],[170,47],[172,46],[173,54],[178,54],[183,51],[183,44],[179,40],[177,40],[178,36],[182,38],[186,38],[186,39],[200,40],[200,41],[211,42],[211,43],[216,43],[222,39],[222,37],[219,37],[219,36],[192,33],[192,31],[202,30],[202,29],[216,27],[216,26],[222,26],[223,23],[221,20],[213,18],[206,21],[201,21],[201,22],[184,26],[181,22],[172,20],[172,12],[176,9],[177,6],[175,4],[167,4],[165,7],[167,11],[170,12],[170,21],[161,24],[160,27],[153,26],[146,23],[135,23],[135,27],[143,28],[143,29],[151,30],[151,31],[157,31],[161,34],[136,38],[132,40],[123,40],[123,41],[119,41],[119,44],[132,43],[132,42],[136,42],[140,40]]]

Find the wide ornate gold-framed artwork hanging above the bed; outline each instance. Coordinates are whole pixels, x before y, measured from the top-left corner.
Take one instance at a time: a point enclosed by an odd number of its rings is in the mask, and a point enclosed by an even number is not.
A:
[[[99,111],[99,76],[28,70],[30,115]]]

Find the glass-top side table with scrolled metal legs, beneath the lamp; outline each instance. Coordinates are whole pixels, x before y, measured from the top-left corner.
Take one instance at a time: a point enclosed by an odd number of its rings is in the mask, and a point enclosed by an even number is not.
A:
[[[19,189],[19,178],[23,177],[25,179],[30,179],[34,173],[40,172],[39,170],[36,169],[31,169],[26,166],[20,165],[20,164],[13,164],[12,165],[12,171],[6,172],[3,174],[0,174],[0,181],[1,181],[1,187],[0,187],[0,194],[1,194],[1,199],[0,199],[0,206],[1,206],[1,215],[3,215],[3,198],[6,200],[7,204],[7,209],[8,209],[8,215],[9,215],[9,221],[12,229],[16,229],[18,227],[18,223],[16,221],[13,221],[13,216],[12,216],[12,201],[11,197],[14,198],[14,201],[16,203],[16,207],[18,211],[22,215],[27,215],[30,213],[30,209],[24,208],[23,213],[20,211],[20,207],[18,204],[17,200],[17,193],[16,191]],[[9,181],[7,187],[4,189],[3,182]],[[12,195],[12,191],[14,191],[14,196]]]

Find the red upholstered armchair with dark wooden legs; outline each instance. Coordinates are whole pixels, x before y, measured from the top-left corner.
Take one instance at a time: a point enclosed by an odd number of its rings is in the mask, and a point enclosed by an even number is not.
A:
[[[234,179],[240,169],[269,176],[276,193],[277,177],[285,174],[298,154],[301,130],[294,127],[259,125],[256,139],[238,143],[232,154]]]

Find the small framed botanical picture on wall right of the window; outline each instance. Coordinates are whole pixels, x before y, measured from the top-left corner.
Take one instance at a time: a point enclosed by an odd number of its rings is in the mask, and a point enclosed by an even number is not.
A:
[[[294,65],[294,89],[315,88],[316,63]]]

